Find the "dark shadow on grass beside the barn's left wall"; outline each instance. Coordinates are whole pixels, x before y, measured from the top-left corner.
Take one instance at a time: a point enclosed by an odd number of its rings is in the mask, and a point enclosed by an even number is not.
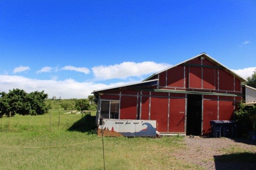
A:
[[[97,125],[95,123],[95,120],[96,120],[96,116],[85,115],[83,118],[75,122],[67,130],[96,133],[95,129],[97,128]]]

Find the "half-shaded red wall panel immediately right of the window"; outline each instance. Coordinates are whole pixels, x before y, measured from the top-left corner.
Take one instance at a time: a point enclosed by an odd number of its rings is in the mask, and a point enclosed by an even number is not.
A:
[[[137,97],[121,96],[120,119],[136,119]]]

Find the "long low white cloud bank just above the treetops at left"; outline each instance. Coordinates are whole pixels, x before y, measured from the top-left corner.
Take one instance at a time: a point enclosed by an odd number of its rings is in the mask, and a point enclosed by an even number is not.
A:
[[[26,92],[43,91],[52,96],[61,96],[62,99],[87,98],[93,90],[109,88],[117,85],[128,84],[132,82],[117,82],[109,85],[94,82],[77,82],[74,79],[65,79],[63,81],[30,79],[22,76],[0,75],[1,91],[8,92],[9,89],[20,88]]]

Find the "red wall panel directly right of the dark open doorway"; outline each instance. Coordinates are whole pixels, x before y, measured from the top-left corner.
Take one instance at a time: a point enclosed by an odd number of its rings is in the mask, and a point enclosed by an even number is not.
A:
[[[211,132],[210,121],[218,119],[218,101],[204,100],[203,134]]]

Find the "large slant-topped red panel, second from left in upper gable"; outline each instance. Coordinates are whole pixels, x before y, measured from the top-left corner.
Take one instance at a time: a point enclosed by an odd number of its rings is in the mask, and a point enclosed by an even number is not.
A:
[[[184,66],[177,66],[167,71],[167,86],[184,87]]]

